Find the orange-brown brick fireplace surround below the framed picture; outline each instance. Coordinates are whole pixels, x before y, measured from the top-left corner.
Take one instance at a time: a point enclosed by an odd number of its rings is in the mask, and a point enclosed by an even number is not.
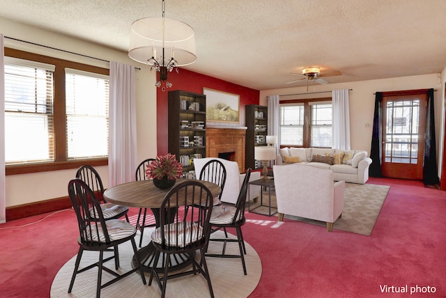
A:
[[[206,127],[206,157],[233,152],[231,160],[245,173],[245,135],[247,127]]]

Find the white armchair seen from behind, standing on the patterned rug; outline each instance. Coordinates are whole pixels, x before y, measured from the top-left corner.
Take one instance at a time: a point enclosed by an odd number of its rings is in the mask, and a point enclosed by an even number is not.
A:
[[[273,166],[279,221],[284,214],[325,221],[328,232],[344,210],[345,182],[328,169],[291,164]]]

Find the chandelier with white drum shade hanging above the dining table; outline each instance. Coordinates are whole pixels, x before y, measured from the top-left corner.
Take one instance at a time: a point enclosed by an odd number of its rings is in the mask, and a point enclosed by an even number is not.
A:
[[[162,0],[162,17],[144,17],[133,22],[128,50],[128,56],[134,61],[151,65],[151,70],[160,72],[155,86],[162,86],[162,91],[172,86],[167,81],[168,72],[174,69],[178,72],[179,66],[197,61],[194,29],[164,17],[165,8]]]

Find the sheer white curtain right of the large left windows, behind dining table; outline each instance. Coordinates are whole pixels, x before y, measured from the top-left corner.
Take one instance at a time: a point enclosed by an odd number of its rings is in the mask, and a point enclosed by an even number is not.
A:
[[[110,61],[109,187],[133,181],[136,166],[134,67]]]

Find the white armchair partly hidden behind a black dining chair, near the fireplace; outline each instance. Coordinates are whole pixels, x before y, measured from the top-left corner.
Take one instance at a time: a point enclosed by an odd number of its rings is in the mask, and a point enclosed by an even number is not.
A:
[[[224,189],[221,201],[224,203],[235,204],[240,193],[240,188],[242,187],[243,180],[245,179],[245,173],[240,174],[237,162],[231,162],[226,159],[217,157],[204,157],[194,159],[195,175],[199,179],[201,168],[212,159],[217,159],[222,162],[224,168],[226,168],[226,182],[224,183]],[[251,172],[249,181],[259,180],[260,172]],[[249,196],[246,197],[247,201],[251,201],[254,198],[260,196],[261,188],[256,185],[249,185]]]

